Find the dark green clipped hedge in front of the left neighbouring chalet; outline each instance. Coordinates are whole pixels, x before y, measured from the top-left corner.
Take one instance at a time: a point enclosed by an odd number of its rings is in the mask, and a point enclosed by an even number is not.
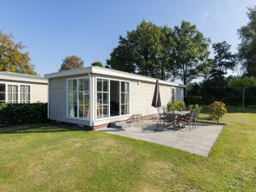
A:
[[[0,126],[44,123],[47,121],[47,104],[0,104]]]

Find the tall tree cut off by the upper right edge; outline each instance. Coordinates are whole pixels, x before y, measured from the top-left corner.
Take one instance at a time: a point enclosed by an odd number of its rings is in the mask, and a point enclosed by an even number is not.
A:
[[[256,6],[248,8],[249,22],[238,30],[238,56],[245,75],[256,77]]]

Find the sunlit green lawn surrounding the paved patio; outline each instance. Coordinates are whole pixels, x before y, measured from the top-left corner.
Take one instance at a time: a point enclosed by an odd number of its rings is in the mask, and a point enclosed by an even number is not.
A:
[[[0,191],[256,191],[256,107],[237,111],[208,158],[50,124],[2,130]]]

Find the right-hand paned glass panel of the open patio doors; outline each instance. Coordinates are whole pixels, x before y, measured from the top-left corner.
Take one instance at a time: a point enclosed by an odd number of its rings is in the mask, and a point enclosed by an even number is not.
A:
[[[121,82],[121,115],[129,114],[129,83],[128,82]]]

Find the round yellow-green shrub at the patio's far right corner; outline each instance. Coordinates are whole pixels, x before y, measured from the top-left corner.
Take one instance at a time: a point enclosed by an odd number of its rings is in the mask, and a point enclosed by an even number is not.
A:
[[[209,114],[210,117],[216,120],[216,123],[219,124],[220,118],[227,113],[227,108],[224,103],[221,101],[214,101],[209,105]]]

